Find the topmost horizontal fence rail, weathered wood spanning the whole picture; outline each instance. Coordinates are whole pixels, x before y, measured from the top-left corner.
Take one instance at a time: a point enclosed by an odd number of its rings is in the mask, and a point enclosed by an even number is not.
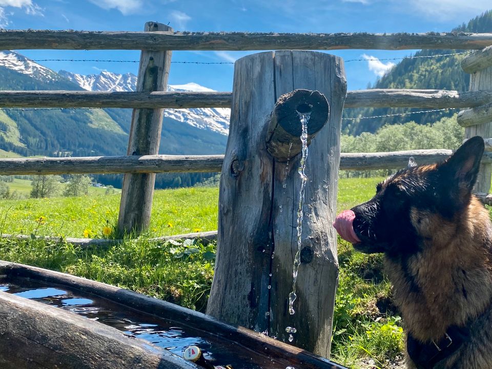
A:
[[[0,32],[1,50],[473,50],[489,45],[492,33]]]

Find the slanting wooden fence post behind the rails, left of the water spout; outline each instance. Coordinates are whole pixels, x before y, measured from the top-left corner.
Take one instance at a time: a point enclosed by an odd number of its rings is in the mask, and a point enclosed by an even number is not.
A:
[[[169,31],[166,25],[147,22],[145,31]],[[171,51],[142,50],[137,91],[166,91]],[[162,109],[134,109],[127,155],[155,155],[159,151]],[[118,215],[119,233],[139,233],[148,228],[154,196],[155,173],[125,174]]]

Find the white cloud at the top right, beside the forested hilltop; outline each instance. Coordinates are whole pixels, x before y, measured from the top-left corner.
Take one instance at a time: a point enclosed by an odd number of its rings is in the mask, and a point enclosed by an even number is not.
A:
[[[397,2],[397,0],[393,0]],[[398,1],[399,3],[399,1]],[[427,17],[437,17],[440,20],[460,19],[478,15],[492,7],[490,0],[409,0],[407,7],[415,8]]]

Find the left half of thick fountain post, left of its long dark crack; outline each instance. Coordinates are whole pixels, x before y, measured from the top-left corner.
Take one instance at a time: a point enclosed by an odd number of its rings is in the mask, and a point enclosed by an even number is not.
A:
[[[207,314],[268,330],[273,162],[264,125],[275,105],[273,52],[234,68],[231,125],[219,189],[217,254]]]

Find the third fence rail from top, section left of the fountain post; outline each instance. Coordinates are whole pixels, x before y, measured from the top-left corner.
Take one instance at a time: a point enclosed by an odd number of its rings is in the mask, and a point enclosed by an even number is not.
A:
[[[0,159],[0,173],[90,174],[220,172],[223,155],[132,155]]]

